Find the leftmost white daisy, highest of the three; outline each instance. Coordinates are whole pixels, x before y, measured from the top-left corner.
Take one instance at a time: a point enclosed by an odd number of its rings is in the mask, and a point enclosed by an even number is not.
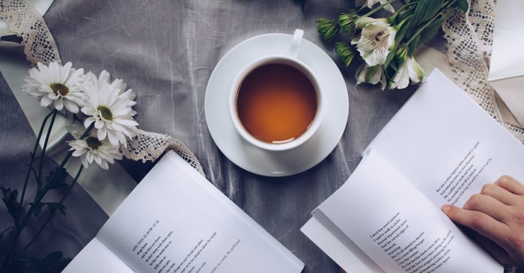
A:
[[[60,65],[51,62],[49,65],[37,64],[37,68],[29,70],[29,77],[24,78],[27,83],[21,86],[30,96],[38,97],[42,107],[52,104],[54,109],[65,109],[78,113],[78,104],[84,94],[79,85],[85,81],[84,70],[71,68],[71,62]]]

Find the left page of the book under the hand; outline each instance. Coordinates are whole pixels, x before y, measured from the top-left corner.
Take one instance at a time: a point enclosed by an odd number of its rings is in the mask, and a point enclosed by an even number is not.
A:
[[[503,271],[373,150],[313,215],[339,228],[386,272]]]

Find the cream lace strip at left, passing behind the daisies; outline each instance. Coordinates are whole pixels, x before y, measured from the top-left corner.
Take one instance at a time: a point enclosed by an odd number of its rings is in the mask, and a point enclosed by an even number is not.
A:
[[[9,29],[23,39],[27,60],[49,64],[60,60],[57,45],[45,20],[27,0],[0,0],[0,19],[7,22]],[[155,161],[167,149],[177,152],[200,174],[204,170],[194,154],[179,140],[167,134],[138,130],[137,136],[129,139],[127,148],[121,146],[122,154],[134,161]]]

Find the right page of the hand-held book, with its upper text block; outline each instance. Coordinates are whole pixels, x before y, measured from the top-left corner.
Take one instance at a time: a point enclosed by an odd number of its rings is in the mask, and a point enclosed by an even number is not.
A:
[[[502,175],[524,183],[524,145],[438,70],[368,149],[438,207],[462,207]]]

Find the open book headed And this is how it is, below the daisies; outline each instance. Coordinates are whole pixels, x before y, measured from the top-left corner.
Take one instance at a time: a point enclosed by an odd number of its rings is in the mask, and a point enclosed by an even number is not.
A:
[[[63,272],[300,272],[304,264],[170,151]]]

